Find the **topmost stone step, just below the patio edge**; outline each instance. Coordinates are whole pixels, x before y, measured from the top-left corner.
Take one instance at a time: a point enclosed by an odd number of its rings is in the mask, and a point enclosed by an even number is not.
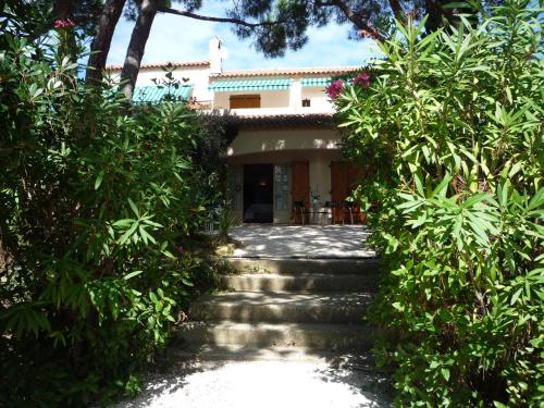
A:
[[[380,260],[368,259],[293,259],[293,258],[227,258],[242,273],[274,274],[378,274]]]

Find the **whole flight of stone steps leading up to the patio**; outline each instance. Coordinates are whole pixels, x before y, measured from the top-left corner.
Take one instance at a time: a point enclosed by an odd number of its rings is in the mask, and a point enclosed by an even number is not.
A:
[[[196,301],[177,335],[186,349],[236,356],[368,350],[362,317],[378,281],[375,259],[232,259],[240,272]]]

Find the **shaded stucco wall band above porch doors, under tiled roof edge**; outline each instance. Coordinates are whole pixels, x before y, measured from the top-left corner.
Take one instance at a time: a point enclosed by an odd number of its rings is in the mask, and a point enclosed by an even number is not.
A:
[[[240,131],[227,148],[227,156],[267,151],[337,149],[339,135],[333,129]]]

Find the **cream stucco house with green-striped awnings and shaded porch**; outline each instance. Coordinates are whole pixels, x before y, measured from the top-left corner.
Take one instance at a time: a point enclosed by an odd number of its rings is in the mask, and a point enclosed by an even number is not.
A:
[[[228,118],[236,136],[227,148],[232,210],[243,222],[353,221],[341,209],[360,172],[341,161],[341,135],[325,94],[331,77],[355,75],[358,66],[223,71],[221,41],[209,61],[171,63],[177,95],[205,114]],[[158,100],[153,78],[165,64],[141,65],[136,101]],[[115,74],[121,66],[109,66]],[[336,210],[332,210],[336,207]]]

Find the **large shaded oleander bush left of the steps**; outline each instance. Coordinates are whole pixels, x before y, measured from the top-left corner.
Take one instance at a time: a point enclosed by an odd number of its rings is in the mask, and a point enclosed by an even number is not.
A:
[[[55,47],[0,36],[0,405],[137,392],[213,277],[186,248],[221,160],[194,160],[208,134],[183,103],[126,107]]]

